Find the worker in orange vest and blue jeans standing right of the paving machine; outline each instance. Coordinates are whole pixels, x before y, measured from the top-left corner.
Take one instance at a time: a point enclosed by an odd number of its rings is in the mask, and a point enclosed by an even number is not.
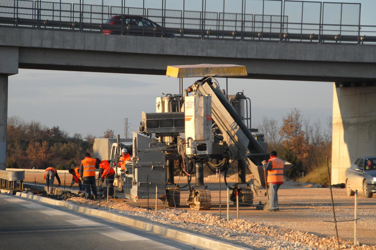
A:
[[[270,152],[270,159],[262,161],[264,170],[268,170],[269,183],[269,205],[267,209],[269,212],[279,211],[278,207],[278,189],[283,184],[283,171],[285,163],[282,159],[277,157],[276,151]]]

